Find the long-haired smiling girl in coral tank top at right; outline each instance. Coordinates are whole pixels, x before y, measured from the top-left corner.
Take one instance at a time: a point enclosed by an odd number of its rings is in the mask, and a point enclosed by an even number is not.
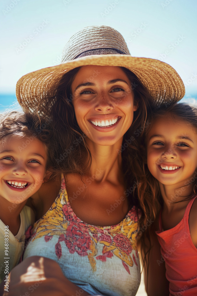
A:
[[[161,207],[156,233],[162,256],[157,263],[166,266],[170,296],[194,296],[197,295],[197,109],[172,104],[157,109],[149,122],[145,176],[139,185],[139,198],[150,220]]]

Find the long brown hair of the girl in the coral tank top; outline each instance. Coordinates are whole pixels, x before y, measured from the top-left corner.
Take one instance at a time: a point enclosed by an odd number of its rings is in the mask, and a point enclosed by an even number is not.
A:
[[[185,123],[190,124],[197,130],[197,109],[187,104],[173,103],[170,106],[168,106],[168,104],[164,104],[158,109],[153,109],[149,114],[147,128],[141,137],[141,143],[139,144],[139,157],[141,158],[140,162],[143,163],[143,172],[141,175],[137,176],[138,186],[136,187],[142,211],[142,215],[139,220],[138,236],[141,241],[141,248],[143,249],[144,254],[147,254],[151,248],[150,236],[152,231],[156,230],[153,221],[158,218],[158,214],[163,205],[163,199],[159,190],[159,183],[149,172],[147,166],[146,136],[156,119],[162,117],[165,118],[167,116],[170,116],[170,118],[172,118],[175,122],[176,120],[183,120]],[[190,196],[185,197],[183,201],[191,199],[196,192],[196,188],[197,180],[194,183],[193,193]],[[147,226],[148,221],[150,222],[149,226]],[[146,259],[143,259],[144,263],[147,263]]]

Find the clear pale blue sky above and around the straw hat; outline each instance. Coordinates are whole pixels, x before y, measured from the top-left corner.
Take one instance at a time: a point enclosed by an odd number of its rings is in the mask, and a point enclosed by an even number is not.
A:
[[[3,0],[0,93],[14,94],[22,75],[58,64],[69,37],[89,25],[115,28],[132,56],[165,61],[186,94],[197,93],[196,10],[195,0]]]

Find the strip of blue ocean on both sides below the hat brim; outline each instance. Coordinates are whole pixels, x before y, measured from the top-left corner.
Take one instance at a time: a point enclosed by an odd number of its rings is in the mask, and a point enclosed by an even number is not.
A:
[[[197,91],[192,94],[186,94],[180,102],[197,107]],[[0,113],[8,110],[21,111],[22,109],[15,94],[0,94]]]

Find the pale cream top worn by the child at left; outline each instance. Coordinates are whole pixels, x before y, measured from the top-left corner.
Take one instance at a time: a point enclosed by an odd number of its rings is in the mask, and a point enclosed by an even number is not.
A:
[[[9,230],[9,243],[8,256],[5,255],[5,224],[0,219],[0,282],[14,266],[19,263],[24,246],[25,246],[25,231],[28,227],[35,222],[35,214],[33,210],[26,206],[20,213],[20,228],[17,235],[13,235]],[[8,266],[8,267],[7,267]]]

